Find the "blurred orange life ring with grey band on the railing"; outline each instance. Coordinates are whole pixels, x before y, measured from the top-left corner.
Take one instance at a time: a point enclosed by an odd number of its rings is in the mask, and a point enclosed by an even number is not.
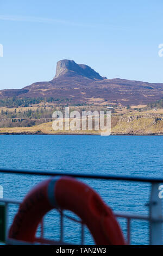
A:
[[[9,238],[34,242],[42,217],[54,208],[78,215],[89,228],[96,245],[125,244],[112,210],[92,188],[68,176],[43,181],[27,194],[10,227]]]

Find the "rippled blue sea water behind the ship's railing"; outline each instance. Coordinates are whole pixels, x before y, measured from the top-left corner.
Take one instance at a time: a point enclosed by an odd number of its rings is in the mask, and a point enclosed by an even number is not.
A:
[[[129,175],[163,178],[162,136],[0,136],[0,168],[68,173]],[[47,176],[48,178],[48,176]],[[46,177],[1,174],[4,197],[23,199],[30,189]],[[145,204],[151,187],[137,182],[85,180],[114,211],[148,214]],[[10,224],[17,211],[10,206]],[[126,236],[127,225],[118,219]],[[56,210],[45,217],[45,236],[59,239],[60,218]],[[148,244],[146,221],[131,221],[131,243]],[[64,240],[80,243],[80,225],[64,219]],[[85,244],[93,244],[85,228]]]

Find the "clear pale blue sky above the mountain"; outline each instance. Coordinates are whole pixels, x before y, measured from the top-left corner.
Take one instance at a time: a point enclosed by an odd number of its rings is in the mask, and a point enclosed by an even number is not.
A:
[[[162,12],[162,0],[0,0],[0,89],[50,81],[61,59],[163,83]]]

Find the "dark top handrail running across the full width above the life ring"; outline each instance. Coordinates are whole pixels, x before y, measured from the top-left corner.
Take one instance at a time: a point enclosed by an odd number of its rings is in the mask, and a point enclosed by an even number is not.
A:
[[[28,175],[42,175],[42,176],[71,176],[74,178],[86,178],[86,179],[103,179],[103,180],[121,180],[121,181],[136,181],[136,182],[150,182],[150,183],[163,183],[162,178],[143,178],[143,177],[131,177],[122,175],[98,175],[98,174],[82,174],[82,173],[63,173],[63,172],[45,172],[35,170],[13,170],[13,169],[0,169],[0,173],[10,174],[28,174]]]

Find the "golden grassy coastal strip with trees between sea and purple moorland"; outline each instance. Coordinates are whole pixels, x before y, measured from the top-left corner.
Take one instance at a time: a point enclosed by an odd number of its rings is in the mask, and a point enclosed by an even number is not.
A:
[[[98,135],[101,131],[54,131],[52,113],[65,106],[41,102],[30,106],[0,107],[0,134],[76,134]],[[112,135],[163,135],[162,101],[138,106],[70,106],[71,111],[111,111]],[[81,125],[82,127],[82,125]]]

